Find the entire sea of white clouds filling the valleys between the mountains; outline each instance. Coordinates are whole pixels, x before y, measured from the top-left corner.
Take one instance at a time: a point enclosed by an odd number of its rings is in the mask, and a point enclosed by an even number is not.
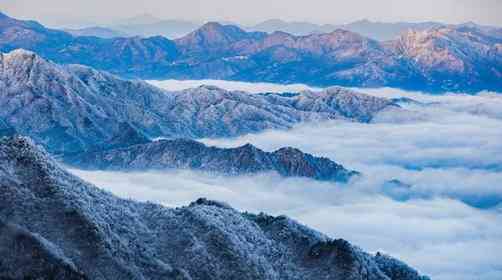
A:
[[[250,92],[308,89],[211,80],[156,84],[170,90],[200,84]],[[369,124],[330,121],[201,139],[221,147],[252,143],[266,151],[293,146],[329,157],[364,174],[346,185],[276,174],[72,172],[126,198],[180,206],[207,197],[240,210],[286,214],[365,250],[389,253],[433,279],[500,279],[502,95],[360,91],[396,98],[405,110],[384,112]],[[392,179],[402,186],[387,186]]]

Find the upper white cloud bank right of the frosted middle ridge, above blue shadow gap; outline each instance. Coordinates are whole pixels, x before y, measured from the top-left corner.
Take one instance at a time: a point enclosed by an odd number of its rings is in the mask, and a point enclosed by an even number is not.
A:
[[[392,89],[369,92],[391,97],[407,94]],[[363,172],[372,187],[399,179],[413,185],[413,193],[421,196],[444,195],[484,207],[501,201],[502,118],[492,111],[472,112],[468,105],[498,106],[495,113],[502,112],[502,95],[409,93],[409,97],[434,105],[403,104],[412,115],[421,118],[393,115],[377,118],[371,124],[344,121],[304,124],[289,131],[270,130],[233,139],[203,139],[203,142],[223,147],[252,143],[267,151],[293,146]]]

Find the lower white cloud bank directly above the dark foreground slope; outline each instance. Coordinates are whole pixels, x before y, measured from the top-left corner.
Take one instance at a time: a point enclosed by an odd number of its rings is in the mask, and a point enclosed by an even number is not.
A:
[[[502,216],[450,199],[397,202],[377,193],[274,174],[72,172],[124,198],[181,206],[199,198],[286,214],[334,238],[383,251],[433,279],[498,279]],[[489,249],[489,250],[488,250]]]

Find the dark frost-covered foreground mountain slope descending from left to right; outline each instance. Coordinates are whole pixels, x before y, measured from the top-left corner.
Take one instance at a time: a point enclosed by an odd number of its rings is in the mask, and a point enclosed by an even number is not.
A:
[[[0,139],[0,187],[2,279],[428,279],[284,216],[119,199],[22,137]]]

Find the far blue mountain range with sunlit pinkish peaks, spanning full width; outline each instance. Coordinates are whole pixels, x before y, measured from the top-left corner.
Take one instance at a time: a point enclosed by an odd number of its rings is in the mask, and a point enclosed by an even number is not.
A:
[[[294,36],[208,23],[174,41],[101,39],[3,15],[0,50],[25,48],[58,63],[86,64],[125,77],[477,92],[502,90],[501,33],[447,26],[411,30],[381,43],[340,29]]]

